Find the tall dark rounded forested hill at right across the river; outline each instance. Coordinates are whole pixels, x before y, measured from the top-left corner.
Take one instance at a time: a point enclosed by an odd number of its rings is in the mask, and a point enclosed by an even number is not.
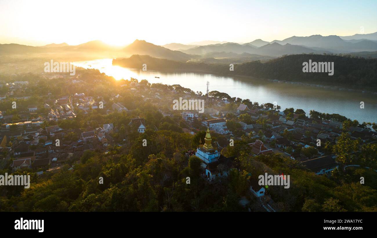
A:
[[[334,75],[304,73],[303,62],[334,62]],[[287,55],[266,63],[258,61],[234,66],[236,75],[301,82],[319,82],[341,87],[377,88],[377,59],[337,55]]]

